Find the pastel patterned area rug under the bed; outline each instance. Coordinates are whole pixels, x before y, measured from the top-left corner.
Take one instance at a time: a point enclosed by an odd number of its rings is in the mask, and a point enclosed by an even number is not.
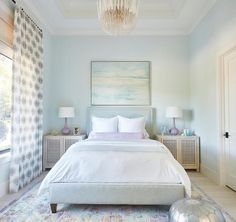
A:
[[[1,222],[167,222],[167,206],[102,206],[59,204],[58,212],[52,214],[47,193],[37,196],[39,184],[21,198],[0,211]],[[199,187],[193,184],[193,196],[201,197],[216,205]],[[219,207],[219,206],[218,206]],[[227,221],[234,221],[226,212]]]

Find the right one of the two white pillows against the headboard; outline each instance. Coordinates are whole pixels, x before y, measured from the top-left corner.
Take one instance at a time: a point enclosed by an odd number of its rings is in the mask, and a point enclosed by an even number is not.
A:
[[[145,131],[144,117],[130,119],[118,116],[118,120],[118,131],[121,133],[144,133]]]

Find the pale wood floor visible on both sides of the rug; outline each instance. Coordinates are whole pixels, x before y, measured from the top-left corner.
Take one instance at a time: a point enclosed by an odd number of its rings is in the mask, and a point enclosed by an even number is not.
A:
[[[22,193],[27,192],[27,190],[32,187],[42,178],[46,173],[42,174],[33,183],[29,184],[27,187],[22,189],[16,194],[9,194],[0,199],[0,209],[7,206],[11,201],[18,199]],[[226,212],[228,212],[236,221],[236,192],[227,188],[221,187],[210,181],[207,177],[200,173],[188,172],[188,175],[201,190],[203,190],[210,198],[212,198],[219,206],[221,206]]]

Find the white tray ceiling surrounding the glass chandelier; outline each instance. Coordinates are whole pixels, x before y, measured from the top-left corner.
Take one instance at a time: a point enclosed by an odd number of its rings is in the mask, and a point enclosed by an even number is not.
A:
[[[103,35],[96,0],[21,0],[55,35]],[[216,0],[140,0],[132,35],[187,35]]]

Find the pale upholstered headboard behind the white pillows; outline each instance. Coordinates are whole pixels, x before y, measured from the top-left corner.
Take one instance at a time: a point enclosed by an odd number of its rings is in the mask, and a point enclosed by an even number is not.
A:
[[[153,136],[154,108],[140,106],[91,106],[88,107],[87,133],[91,131],[91,117],[110,118],[121,115],[128,118],[144,116],[146,119],[146,130]]]

